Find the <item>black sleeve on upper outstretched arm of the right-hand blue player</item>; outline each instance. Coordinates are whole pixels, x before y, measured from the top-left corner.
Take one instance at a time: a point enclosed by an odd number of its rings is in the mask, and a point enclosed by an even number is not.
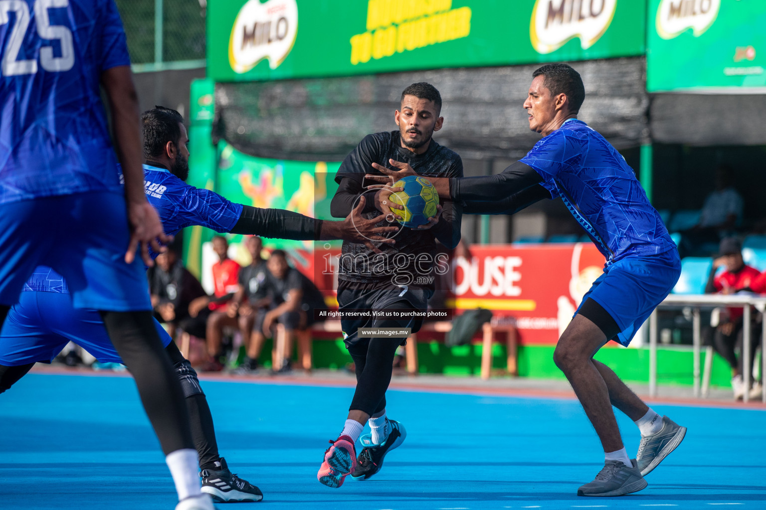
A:
[[[450,178],[450,197],[463,205],[502,201],[541,182],[542,177],[534,168],[516,161],[499,174]]]

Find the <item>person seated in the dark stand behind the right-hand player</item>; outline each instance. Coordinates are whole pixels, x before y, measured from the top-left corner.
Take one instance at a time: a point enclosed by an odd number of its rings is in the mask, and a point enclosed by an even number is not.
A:
[[[705,243],[718,243],[742,223],[742,197],[734,187],[734,169],[722,164],[715,171],[715,190],[705,198],[699,223],[683,232],[681,255],[701,254]]]

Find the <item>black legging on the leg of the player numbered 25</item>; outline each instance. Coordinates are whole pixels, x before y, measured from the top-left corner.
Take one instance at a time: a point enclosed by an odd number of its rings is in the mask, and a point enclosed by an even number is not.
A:
[[[176,450],[194,449],[181,383],[162,348],[152,313],[100,313],[114,348],[136,380],[162,451],[168,455]]]

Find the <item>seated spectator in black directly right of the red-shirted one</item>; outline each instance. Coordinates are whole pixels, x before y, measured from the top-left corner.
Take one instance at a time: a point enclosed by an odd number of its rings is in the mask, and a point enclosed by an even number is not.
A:
[[[258,367],[258,357],[266,341],[263,331],[264,318],[271,308],[267,284],[269,270],[266,268],[266,261],[260,256],[263,242],[260,237],[250,236],[245,245],[253,261],[246,268],[241,268],[239,290],[229,304],[229,315],[237,317],[242,341],[247,348],[247,356],[238,370],[241,374],[253,372]]]

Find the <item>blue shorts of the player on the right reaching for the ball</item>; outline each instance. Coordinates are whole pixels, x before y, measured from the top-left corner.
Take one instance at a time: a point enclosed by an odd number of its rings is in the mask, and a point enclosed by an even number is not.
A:
[[[620,326],[617,341],[627,347],[641,324],[670,294],[680,274],[676,249],[647,257],[627,256],[604,268],[580,307],[588,297],[604,307]]]

